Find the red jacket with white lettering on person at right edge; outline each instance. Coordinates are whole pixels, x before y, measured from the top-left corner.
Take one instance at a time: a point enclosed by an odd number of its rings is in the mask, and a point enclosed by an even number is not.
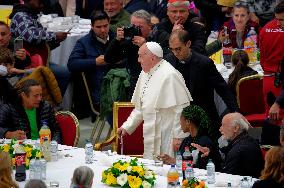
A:
[[[267,23],[259,34],[260,64],[264,71],[280,71],[280,61],[284,58],[284,30],[274,19]],[[279,67],[279,70],[278,70]]]

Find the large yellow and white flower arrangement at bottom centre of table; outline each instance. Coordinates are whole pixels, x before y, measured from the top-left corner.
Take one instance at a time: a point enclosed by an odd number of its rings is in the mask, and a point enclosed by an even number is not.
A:
[[[156,174],[137,163],[138,159],[131,159],[130,162],[119,160],[113,163],[112,167],[102,173],[102,182],[115,187],[123,188],[150,188],[156,180]]]

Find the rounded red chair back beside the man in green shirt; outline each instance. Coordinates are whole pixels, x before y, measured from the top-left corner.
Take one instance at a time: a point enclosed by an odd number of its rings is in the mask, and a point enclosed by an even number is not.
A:
[[[77,146],[80,138],[79,121],[77,117],[69,111],[58,111],[55,117],[61,129],[62,144]]]

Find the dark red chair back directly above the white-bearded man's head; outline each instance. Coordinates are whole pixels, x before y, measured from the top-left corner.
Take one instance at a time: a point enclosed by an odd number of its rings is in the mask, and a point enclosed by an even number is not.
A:
[[[241,78],[237,83],[237,100],[244,115],[265,113],[263,79],[261,75]]]

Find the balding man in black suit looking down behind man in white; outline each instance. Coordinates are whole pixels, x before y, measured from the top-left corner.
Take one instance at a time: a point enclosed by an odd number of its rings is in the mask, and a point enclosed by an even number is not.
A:
[[[220,135],[218,129],[221,119],[214,103],[214,90],[221,96],[230,112],[238,111],[236,98],[228,89],[214,62],[190,49],[191,38],[187,31],[179,29],[172,32],[169,46],[172,53],[165,59],[183,75],[193,103],[205,110],[217,138]]]

